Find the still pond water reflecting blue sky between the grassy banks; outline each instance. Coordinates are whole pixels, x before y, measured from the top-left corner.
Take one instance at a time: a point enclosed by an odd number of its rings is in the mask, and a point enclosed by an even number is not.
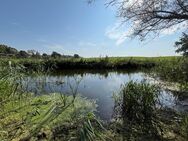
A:
[[[118,92],[123,84],[130,80],[141,81],[145,78],[143,73],[117,73],[110,72],[108,75],[86,73],[83,76],[66,74],[58,76],[40,76],[37,78],[27,78],[28,90],[36,94],[61,92],[68,94],[71,92],[70,87],[76,87],[79,83],[78,93],[89,99],[96,99],[98,104],[98,115],[102,119],[110,119],[113,112],[114,92]],[[163,92],[160,101],[164,106],[174,106],[174,97],[172,94]]]

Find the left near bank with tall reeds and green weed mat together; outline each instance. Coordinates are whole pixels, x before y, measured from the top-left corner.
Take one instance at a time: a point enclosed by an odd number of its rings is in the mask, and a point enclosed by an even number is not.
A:
[[[95,101],[77,96],[78,86],[74,88],[70,84],[72,96],[63,94],[35,96],[26,92],[22,85],[26,75],[24,71],[21,67],[1,68],[0,140],[53,140],[56,136],[54,132],[56,126],[66,123],[69,123],[70,131],[68,130],[68,135],[62,140],[81,138],[79,132],[81,129],[84,129],[84,135],[87,135],[83,136],[83,139],[89,137],[95,140],[99,137],[95,129],[97,124],[92,125],[92,128],[86,128],[88,124],[91,125],[93,121],[97,121],[94,116],[93,118],[87,116],[87,113],[95,111]],[[36,75],[37,72],[34,74]],[[84,119],[87,119],[87,122]],[[71,130],[75,126],[78,128]],[[94,131],[92,136],[91,129]],[[62,129],[61,134],[65,134]]]

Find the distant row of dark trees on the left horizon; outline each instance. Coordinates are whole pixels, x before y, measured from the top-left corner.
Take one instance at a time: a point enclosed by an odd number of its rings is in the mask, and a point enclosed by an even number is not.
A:
[[[62,55],[58,52],[53,51],[50,55],[47,53],[40,54],[36,50],[20,50],[18,51],[15,48],[9,47],[7,45],[0,44],[0,57],[15,57],[15,58],[80,58],[78,54],[71,55]]]

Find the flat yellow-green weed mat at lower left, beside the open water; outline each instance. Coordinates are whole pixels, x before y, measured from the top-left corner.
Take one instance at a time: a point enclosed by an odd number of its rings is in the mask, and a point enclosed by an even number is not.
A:
[[[0,110],[0,140],[67,140],[79,138],[79,129],[87,114],[95,110],[95,103],[77,97],[74,105],[62,105],[60,94],[12,99]],[[72,97],[64,97],[68,104]],[[80,123],[79,123],[80,122]],[[58,130],[65,129],[68,134]],[[59,131],[60,132],[60,131]]]

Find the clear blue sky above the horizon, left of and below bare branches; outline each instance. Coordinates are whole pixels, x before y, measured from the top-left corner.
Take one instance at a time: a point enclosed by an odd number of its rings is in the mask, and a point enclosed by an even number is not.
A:
[[[0,44],[50,54],[172,56],[182,31],[169,30],[144,42],[124,35],[115,7],[105,0],[0,0]]]

